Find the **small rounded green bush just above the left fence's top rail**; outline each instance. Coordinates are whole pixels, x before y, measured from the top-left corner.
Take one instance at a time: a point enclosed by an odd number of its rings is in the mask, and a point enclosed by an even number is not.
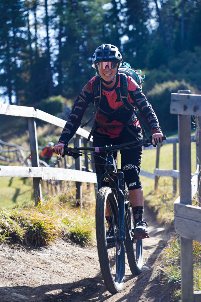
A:
[[[49,114],[58,116],[58,114],[63,111],[63,104],[65,102],[66,99],[61,95],[51,96],[40,101],[37,108]]]

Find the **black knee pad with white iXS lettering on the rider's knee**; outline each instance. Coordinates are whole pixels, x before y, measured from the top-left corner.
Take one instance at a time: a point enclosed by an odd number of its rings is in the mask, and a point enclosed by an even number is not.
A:
[[[133,164],[125,164],[122,167],[122,172],[124,172],[124,179],[127,184],[128,190],[142,188],[142,183],[140,182],[139,169],[137,166]]]

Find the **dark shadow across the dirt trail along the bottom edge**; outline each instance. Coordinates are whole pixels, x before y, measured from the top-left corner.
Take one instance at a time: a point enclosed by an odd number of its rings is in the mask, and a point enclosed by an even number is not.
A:
[[[161,252],[160,246],[149,257],[147,262],[149,267],[153,266],[159,252]],[[126,275],[123,291],[115,295],[110,294],[106,290],[102,276],[99,273],[95,278],[90,278],[89,276],[88,278],[68,284],[47,284],[37,287],[34,287],[34,284],[33,287],[20,285],[15,287],[0,287],[0,297],[2,302],[10,302],[12,300],[17,302],[160,302],[163,296],[162,286],[159,284],[159,274],[154,273],[154,276],[152,276],[153,273],[154,270],[151,268],[143,271],[138,276]],[[152,285],[145,291],[149,283]],[[158,294],[160,291],[161,297]],[[144,300],[145,297],[146,300]],[[169,302],[170,300],[163,298],[163,301]]]

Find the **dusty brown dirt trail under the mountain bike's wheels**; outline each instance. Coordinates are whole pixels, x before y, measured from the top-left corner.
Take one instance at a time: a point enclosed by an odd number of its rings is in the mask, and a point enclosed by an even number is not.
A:
[[[144,239],[144,271],[133,276],[126,259],[121,293],[110,294],[103,283],[96,246],[82,248],[59,240],[47,248],[2,245],[0,301],[31,302],[172,302],[162,292],[160,256],[170,234],[146,210],[150,238]],[[157,230],[155,230],[157,228]]]

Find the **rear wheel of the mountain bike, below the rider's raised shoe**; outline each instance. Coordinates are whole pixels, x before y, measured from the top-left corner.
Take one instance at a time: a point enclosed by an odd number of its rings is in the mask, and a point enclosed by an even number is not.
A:
[[[126,188],[126,198],[128,199],[128,189]],[[133,238],[134,218],[130,201],[125,205],[126,211],[126,254],[130,271],[133,275],[139,275],[143,269],[143,241]]]

